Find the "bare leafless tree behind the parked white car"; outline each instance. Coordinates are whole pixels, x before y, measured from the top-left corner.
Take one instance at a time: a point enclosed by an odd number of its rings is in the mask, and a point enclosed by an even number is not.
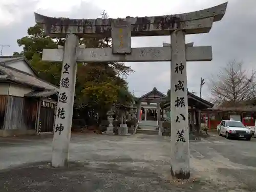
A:
[[[243,62],[236,60],[227,63],[220,72],[212,75],[209,89],[212,101],[218,105],[237,106],[255,97],[255,71],[245,70]]]

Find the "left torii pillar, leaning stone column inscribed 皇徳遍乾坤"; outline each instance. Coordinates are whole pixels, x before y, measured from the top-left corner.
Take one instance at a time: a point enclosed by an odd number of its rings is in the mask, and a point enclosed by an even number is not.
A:
[[[67,34],[59,83],[57,113],[55,115],[52,148],[53,167],[62,167],[68,164],[77,70],[76,49],[78,43],[78,36]]]

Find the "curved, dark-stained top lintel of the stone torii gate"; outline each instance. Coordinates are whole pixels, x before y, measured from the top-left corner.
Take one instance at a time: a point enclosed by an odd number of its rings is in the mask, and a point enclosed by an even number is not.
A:
[[[170,31],[177,29],[186,30],[186,34],[206,33],[210,30],[209,18],[212,18],[212,22],[221,20],[226,7],[227,3],[224,3],[190,13],[151,17],[127,16],[121,19],[131,24],[132,36],[169,35]],[[36,23],[43,24],[46,33],[53,37],[65,37],[67,33],[74,33],[80,37],[111,37],[111,24],[115,20],[54,18],[35,13]]]

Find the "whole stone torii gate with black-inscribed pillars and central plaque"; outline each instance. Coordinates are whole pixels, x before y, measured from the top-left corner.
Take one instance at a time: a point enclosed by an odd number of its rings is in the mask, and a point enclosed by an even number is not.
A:
[[[69,158],[76,62],[172,61],[171,79],[171,174],[190,177],[186,61],[212,60],[211,47],[185,46],[185,35],[207,33],[222,19],[227,3],[185,14],[118,19],[53,18],[35,13],[37,24],[51,37],[66,37],[65,47],[44,49],[42,60],[62,62],[55,117],[52,166],[65,166]],[[131,48],[132,36],[170,35],[171,45]],[[112,37],[112,48],[81,48],[79,38]]]

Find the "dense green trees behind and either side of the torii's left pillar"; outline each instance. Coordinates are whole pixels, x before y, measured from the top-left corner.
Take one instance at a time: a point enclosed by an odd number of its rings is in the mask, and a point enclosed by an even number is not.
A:
[[[14,52],[13,55],[24,55],[40,78],[58,86],[62,64],[42,61],[42,51],[45,48],[56,49],[58,45],[65,45],[65,38],[49,37],[41,26],[35,25],[30,27],[28,35],[18,39],[17,43],[23,47],[23,51]],[[112,39],[82,38],[80,45],[83,44],[86,44],[87,48],[111,47]],[[120,62],[78,63],[75,108],[83,111],[83,114],[87,114],[88,110],[104,114],[114,102],[130,99],[131,97],[127,97],[127,83],[120,76],[127,76],[131,72],[131,67]]]

